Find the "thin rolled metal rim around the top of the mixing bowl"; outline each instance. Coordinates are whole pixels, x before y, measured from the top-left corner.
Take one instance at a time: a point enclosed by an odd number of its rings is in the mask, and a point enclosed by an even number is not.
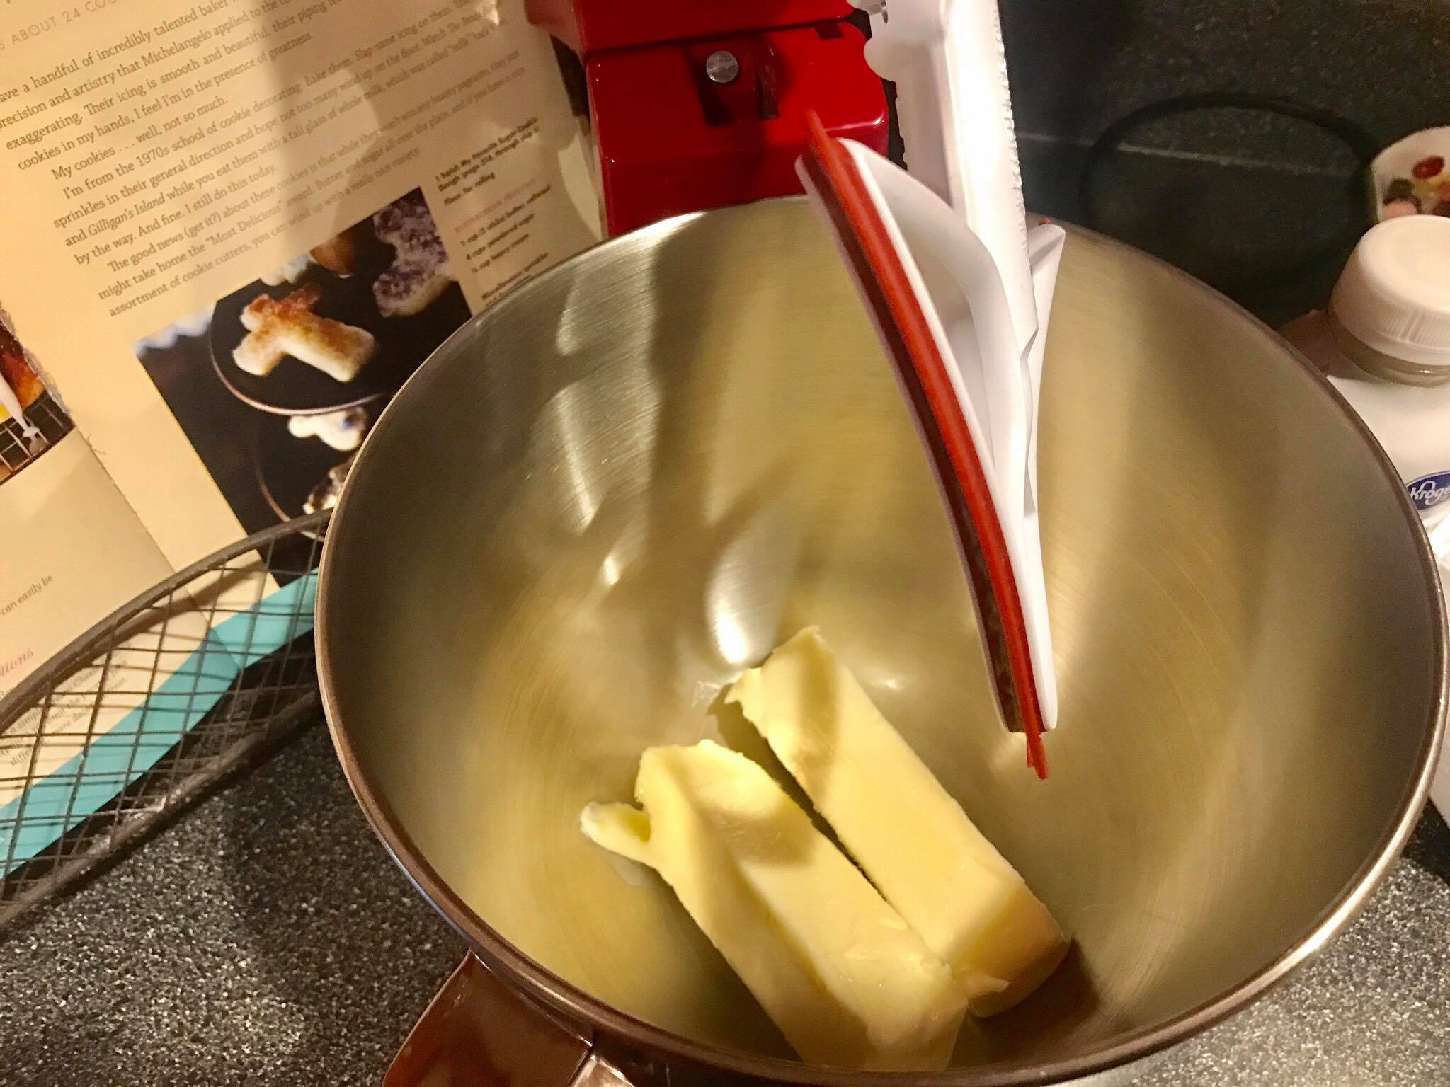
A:
[[[639,230],[602,241],[597,245],[561,261],[548,271],[544,271],[528,283],[515,287],[496,301],[486,306],[458,330],[455,330],[447,341],[444,341],[444,343],[441,343],[432,355],[429,355],[423,365],[420,365],[418,371],[407,378],[399,393],[383,410],[373,430],[377,432],[387,428],[392,416],[406,410],[409,388],[416,388],[422,383],[431,380],[435,370],[432,365],[434,361],[445,355],[454,338],[470,335],[474,326],[484,323],[505,307],[528,304],[528,300],[532,296],[544,293],[554,281],[571,275],[577,264],[589,259],[597,251],[628,251],[637,248],[648,251],[651,243],[684,229],[692,222],[703,216],[740,216],[751,215],[760,206],[808,203],[808,199],[803,196],[777,197],[774,200],[755,201],[754,204],[676,216]],[[1061,220],[1054,222],[1061,223]],[[1156,265],[1172,278],[1180,280],[1199,291],[1205,291],[1205,300],[1209,300],[1218,309],[1225,310],[1230,317],[1247,322],[1262,335],[1277,339],[1273,329],[1260,322],[1256,316],[1180,268],[1095,230],[1088,230],[1086,228],[1069,223],[1061,225],[1069,230],[1070,236],[1092,241],[1105,245],[1109,249],[1118,249],[1130,254],[1135,259]],[[1415,513],[1404,486],[1401,484],[1399,472],[1395,470],[1385,451],[1379,446],[1369,428],[1302,354],[1293,349],[1289,343],[1283,341],[1279,342],[1285,354],[1302,370],[1302,375],[1311,380],[1320,388],[1321,394],[1327,394],[1330,401],[1340,412],[1341,417],[1344,417],[1350,426],[1367,441],[1372,455],[1385,472],[1386,483],[1393,484],[1398,494],[1398,504],[1404,516],[1411,519],[1414,526],[1418,529],[1420,517]],[[1305,962],[1318,955],[1320,951],[1322,951],[1322,948],[1363,909],[1369,896],[1378,888],[1391,864],[1395,862],[1409,839],[1409,835],[1412,833],[1424,807],[1425,799],[1428,797],[1437,752],[1444,733],[1447,674],[1450,674],[1450,662],[1447,662],[1446,606],[1440,588],[1437,565],[1434,555],[1430,551],[1428,539],[1424,532],[1420,530],[1417,557],[1420,559],[1421,572],[1431,588],[1437,609],[1437,623],[1434,630],[1436,644],[1433,648],[1433,683],[1436,697],[1431,710],[1430,729],[1420,751],[1414,780],[1405,796],[1401,799],[1399,816],[1393,822],[1393,826],[1382,836],[1376,849],[1346,883],[1341,894],[1312,925],[1308,926],[1308,930],[1299,939],[1296,939],[1270,964],[1259,970],[1256,974],[1251,974],[1240,984],[1231,986],[1211,1000],[1202,1001],[1201,1004],[1186,1012],[1180,1012],[1170,1019],[1116,1038],[1109,1038],[1105,1044],[1101,1044],[1085,1054],[1056,1057],[1044,1061],[999,1061],[993,1064],[947,1068],[941,1073],[863,1073],[841,1068],[822,1068],[784,1058],[757,1057],[710,1042],[699,1042],[654,1026],[642,1019],[637,1019],[635,1016],[621,1012],[603,1000],[590,996],[580,987],[534,961],[529,955],[516,948],[505,939],[502,933],[496,932],[487,922],[484,922],[483,917],[480,917],[452,890],[452,887],[450,887],[448,883],[439,877],[432,864],[423,857],[422,851],[413,842],[412,836],[402,828],[402,823],[399,822],[392,806],[383,797],[370,774],[362,767],[357,752],[348,741],[345,729],[339,725],[341,713],[334,686],[334,664],[329,645],[331,639],[328,638],[331,617],[331,606],[328,601],[332,599],[334,593],[334,580],[331,577],[334,568],[332,555],[339,546],[338,541],[342,536],[339,526],[345,526],[348,523],[348,509],[351,506],[349,499],[355,491],[351,481],[357,480],[361,474],[360,470],[362,465],[367,464],[373,455],[377,455],[373,454],[377,448],[378,443],[376,441],[365,442],[358,452],[358,459],[354,464],[352,471],[348,474],[348,483],[344,486],[342,496],[334,510],[332,522],[323,544],[316,591],[315,628],[318,645],[318,678],[322,693],[322,706],[328,720],[328,730],[332,736],[338,759],[342,764],[344,777],[347,778],[352,794],[357,797],[368,823],[383,842],[389,855],[392,855],[393,861],[403,870],[409,881],[429,901],[429,904],[438,910],[444,920],[464,938],[473,954],[476,954],[484,965],[503,975],[513,986],[521,987],[536,1003],[555,1013],[564,1015],[568,1020],[589,1025],[593,1029],[600,1029],[612,1036],[626,1039],[631,1046],[663,1059],[703,1065],[728,1071],[731,1074],[774,1080],[779,1083],[809,1081],[812,1084],[819,1084],[819,1087],[861,1087],[863,1084],[879,1084],[880,1087],[1022,1087],[1024,1084],[1070,1081],[1079,1077],[1088,1077],[1131,1064],[1167,1049],[1247,1007],[1269,988],[1293,974]]]

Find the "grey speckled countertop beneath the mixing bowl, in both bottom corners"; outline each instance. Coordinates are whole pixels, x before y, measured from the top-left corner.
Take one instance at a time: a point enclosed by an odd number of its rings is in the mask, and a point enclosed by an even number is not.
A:
[[[0,1084],[377,1084],[461,955],[312,728],[0,944]],[[1450,1084],[1433,812],[1314,967],[1140,1081],[1391,1084]]]

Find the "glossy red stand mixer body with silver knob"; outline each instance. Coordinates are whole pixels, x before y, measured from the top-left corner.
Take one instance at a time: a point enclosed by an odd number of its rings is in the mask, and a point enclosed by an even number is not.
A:
[[[815,112],[886,152],[880,78],[845,0],[526,0],[584,65],[605,226],[802,191]]]

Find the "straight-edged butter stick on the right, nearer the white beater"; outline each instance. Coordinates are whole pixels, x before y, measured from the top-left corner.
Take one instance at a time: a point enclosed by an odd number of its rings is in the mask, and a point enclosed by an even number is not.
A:
[[[1067,939],[815,628],[731,687],[737,703],[886,900],[970,994],[1016,1004]]]

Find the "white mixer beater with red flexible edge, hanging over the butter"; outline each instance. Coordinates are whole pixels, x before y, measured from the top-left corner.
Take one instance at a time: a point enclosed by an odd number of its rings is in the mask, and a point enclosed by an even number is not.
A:
[[[912,404],[1002,717],[1027,735],[1028,765],[1045,777],[1041,733],[1057,720],[1057,683],[1035,443],[1064,235],[1027,229],[995,3],[874,4],[871,30],[867,59],[898,84],[911,174],[819,123],[798,171]]]

